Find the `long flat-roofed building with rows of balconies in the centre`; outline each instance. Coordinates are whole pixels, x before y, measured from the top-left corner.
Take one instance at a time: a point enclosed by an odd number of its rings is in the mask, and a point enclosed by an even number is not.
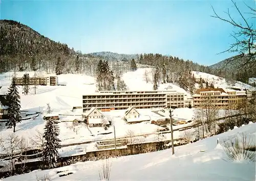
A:
[[[147,108],[184,108],[184,93],[177,91],[100,91],[82,95],[83,112]]]

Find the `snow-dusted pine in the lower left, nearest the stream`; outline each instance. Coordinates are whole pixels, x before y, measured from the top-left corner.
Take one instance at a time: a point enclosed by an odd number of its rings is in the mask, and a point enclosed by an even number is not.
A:
[[[46,145],[44,148],[44,160],[48,168],[56,167],[57,159],[59,158],[58,149],[60,148],[60,139],[58,123],[52,119],[47,120],[45,125],[44,138]]]

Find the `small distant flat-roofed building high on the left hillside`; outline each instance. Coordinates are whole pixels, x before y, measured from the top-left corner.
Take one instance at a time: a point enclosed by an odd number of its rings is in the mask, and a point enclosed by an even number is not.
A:
[[[29,85],[39,85],[39,86],[57,86],[58,77],[57,76],[46,76],[46,77],[29,77]],[[16,85],[23,85],[23,78],[16,77]]]

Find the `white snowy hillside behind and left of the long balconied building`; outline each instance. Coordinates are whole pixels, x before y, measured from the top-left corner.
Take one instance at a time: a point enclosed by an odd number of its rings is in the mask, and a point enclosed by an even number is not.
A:
[[[144,73],[147,71],[149,82],[146,83]],[[153,90],[153,81],[151,75],[151,68],[141,68],[137,71],[126,72],[122,75],[122,79],[129,90]],[[18,77],[22,77],[25,72],[16,72]],[[34,76],[34,72],[27,72],[30,77]],[[8,87],[11,83],[13,72],[0,74],[0,94],[8,92]],[[45,76],[45,72],[37,72],[36,76]],[[55,112],[63,110],[71,110],[73,106],[82,106],[82,95],[94,93],[96,82],[94,77],[82,74],[61,74],[58,75],[59,84],[66,86],[37,86],[36,94],[34,94],[34,87],[30,87],[28,95],[22,95],[22,86],[19,86],[19,93],[21,97],[22,109],[36,109],[44,108],[47,103],[50,103]],[[166,90],[165,88],[172,86],[173,90],[179,92],[186,91],[173,84],[161,84],[158,90]],[[187,93],[186,93],[187,94]]]

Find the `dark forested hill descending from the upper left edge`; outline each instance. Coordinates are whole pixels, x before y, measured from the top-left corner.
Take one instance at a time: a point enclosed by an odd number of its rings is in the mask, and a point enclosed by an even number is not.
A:
[[[19,22],[1,19],[0,27],[0,72],[37,69],[54,73],[59,66],[61,73],[79,73],[88,72],[88,64],[96,67],[97,58],[54,42]],[[91,68],[90,74],[94,71]]]

